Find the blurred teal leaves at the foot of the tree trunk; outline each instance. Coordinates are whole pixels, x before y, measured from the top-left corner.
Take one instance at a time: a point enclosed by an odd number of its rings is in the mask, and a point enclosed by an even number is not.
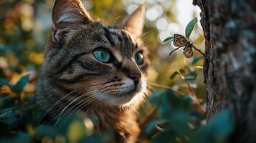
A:
[[[189,110],[192,100],[181,97],[172,90],[156,92],[149,101],[161,113],[160,119],[153,120],[147,128],[149,132],[153,130],[152,124],[161,126],[158,127],[160,131],[153,136],[153,142],[221,143],[227,141],[234,128],[229,109],[222,110],[204,125],[204,119]]]

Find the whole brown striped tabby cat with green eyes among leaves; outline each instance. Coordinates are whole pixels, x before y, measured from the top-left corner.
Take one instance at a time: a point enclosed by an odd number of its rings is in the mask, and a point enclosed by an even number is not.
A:
[[[80,112],[97,117],[95,130],[113,129],[115,142],[136,142],[136,108],[145,98],[147,49],[140,36],[145,6],[120,26],[94,21],[80,0],[56,0],[52,36],[37,84],[49,120]]]

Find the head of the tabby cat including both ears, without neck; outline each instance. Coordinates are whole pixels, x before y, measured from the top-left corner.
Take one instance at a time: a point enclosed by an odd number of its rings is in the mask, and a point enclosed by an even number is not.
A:
[[[140,39],[144,14],[141,5],[120,26],[106,26],[94,21],[80,0],[54,1],[44,89],[84,104],[129,107],[141,102],[149,64]]]

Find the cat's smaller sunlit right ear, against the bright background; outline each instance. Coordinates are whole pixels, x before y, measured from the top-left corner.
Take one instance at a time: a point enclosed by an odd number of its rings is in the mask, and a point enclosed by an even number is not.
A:
[[[134,34],[135,36],[141,36],[144,26],[145,10],[145,4],[139,6],[138,9],[133,11],[133,14],[125,19],[121,28],[130,31],[131,34]]]

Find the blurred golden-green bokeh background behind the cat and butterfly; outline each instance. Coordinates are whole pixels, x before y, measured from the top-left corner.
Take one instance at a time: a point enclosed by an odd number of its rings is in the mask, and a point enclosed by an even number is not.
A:
[[[34,94],[35,85],[44,61],[44,46],[52,29],[52,0],[1,0],[0,1],[0,78],[15,84],[24,74],[30,74],[29,83],[24,87],[22,97]],[[203,84],[202,55],[194,51],[194,57],[186,59],[183,50],[169,53],[173,44],[162,44],[163,39],[174,34],[185,35],[186,25],[197,17],[200,10],[192,0],[82,0],[94,19],[105,24],[118,24],[140,4],[146,4],[146,24],[143,41],[150,51],[151,66],[148,81],[188,93],[187,83],[194,90],[204,106],[206,94]],[[119,17],[119,18],[118,18]],[[195,46],[204,51],[204,36],[199,22],[190,36]],[[170,79],[175,71],[183,76]],[[186,74],[186,75],[185,75]],[[152,86],[161,90],[163,86]],[[7,86],[0,87],[0,97],[11,94]],[[145,103],[141,108],[141,119],[151,109]]]

